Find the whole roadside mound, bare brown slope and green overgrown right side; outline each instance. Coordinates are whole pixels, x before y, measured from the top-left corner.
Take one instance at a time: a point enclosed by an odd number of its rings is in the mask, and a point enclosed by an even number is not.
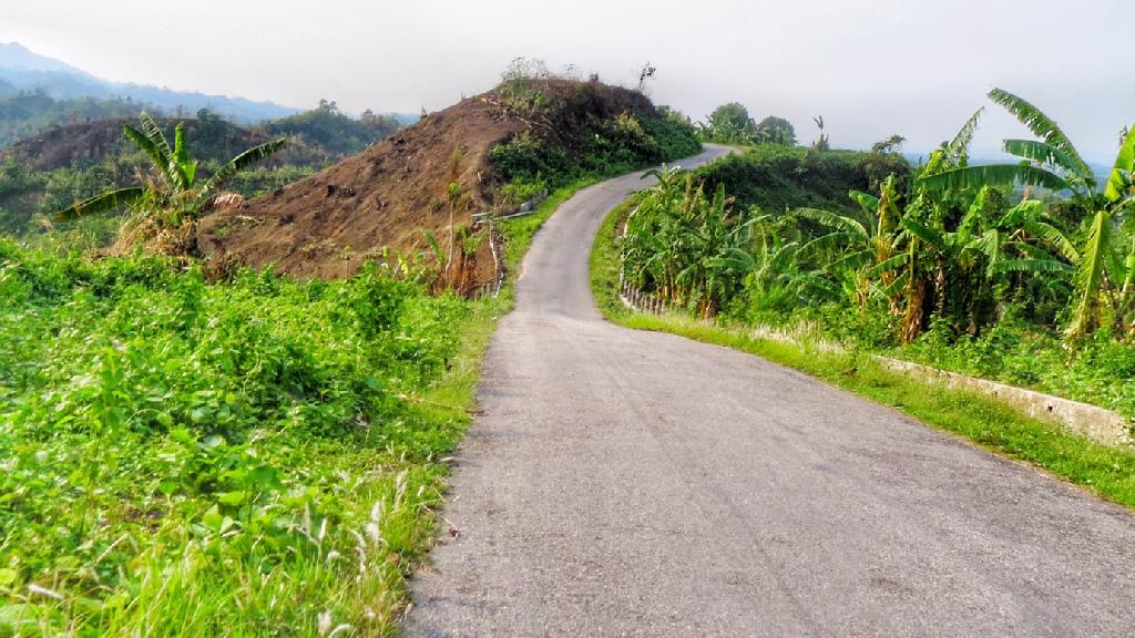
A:
[[[473,213],[512,212],[541,191],[698,149],[688,120],[639,92],[521,66],[494,91],[207,217],[197,244],[215,260],[346,277],[384,252],[436,254],[432,237],[443,254],[456,253],[444,258],[463,270],[453,278],[478,285],[496,268],[488,228],[473,228]]]

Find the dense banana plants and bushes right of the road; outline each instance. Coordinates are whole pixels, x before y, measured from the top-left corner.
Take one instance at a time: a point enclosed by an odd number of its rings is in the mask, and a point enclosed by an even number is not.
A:
[[[1135,134],[1103,184],[1060,127],[972,166],[981,112],[913,170],[892,137],[854,153],[758,144],[667,174],[629,218],[628,278],[700,317],[787,327],[1135,417]],[[818,141],[817,141],[818,142]]]

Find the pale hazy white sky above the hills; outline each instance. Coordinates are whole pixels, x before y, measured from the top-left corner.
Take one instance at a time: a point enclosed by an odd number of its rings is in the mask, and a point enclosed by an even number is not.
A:
[[[494,85],[518,56],[649,91],[695,119],[745,103],[802,141],[952,136],[993,86],[1054,117],[1110,162],[1135,120],[1132,0],[2,0],[19,41],[121,82],[359,112],[440,109]],[[144,25],[144,26],[143,26]],[[143,28],[157,30],[142,34]],[[987,109],[976,151],[1025,132]]]

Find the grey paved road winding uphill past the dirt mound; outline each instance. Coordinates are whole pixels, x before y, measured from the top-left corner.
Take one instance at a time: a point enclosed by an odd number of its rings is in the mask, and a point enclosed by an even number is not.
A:
[[[712,150],[698,158],[708,159]],[[410,636],[1135,636],[1135,518],[804,375],[606,324],[539,233]]]

